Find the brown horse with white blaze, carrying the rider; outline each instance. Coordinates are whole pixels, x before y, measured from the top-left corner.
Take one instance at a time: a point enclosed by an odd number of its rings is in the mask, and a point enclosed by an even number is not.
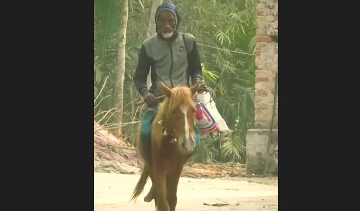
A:
[[[150,176],[152,187],[144,201],[155,199],[156,211],[175,211],[180,174],[195,146],[193,97],[199,84],[170,89],[162,83],[162,89],[166,98],[151,125],[150,153],[143,149],[139,124],[137,151],[145,165],[131,200],[137,199]]]

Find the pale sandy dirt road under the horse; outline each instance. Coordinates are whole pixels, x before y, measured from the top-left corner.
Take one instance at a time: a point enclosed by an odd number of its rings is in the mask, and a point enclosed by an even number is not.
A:
[[[155,211],[154,201],[143,201],[150,179],[134,204],[129,199],[140,175],[94,174],[94,211]],[[274,211],[278,210],[278,177],[181,177],[177,197],[176,211]]]

